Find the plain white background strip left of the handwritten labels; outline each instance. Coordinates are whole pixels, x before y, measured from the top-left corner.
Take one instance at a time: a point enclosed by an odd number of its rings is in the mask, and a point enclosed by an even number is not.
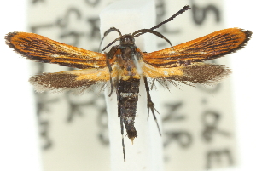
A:
[[[27,84],[29,63],[4,43],[10,31],[26,31],[25,0],[10,0],[0,6],[1,111],[0,170],[42,170],[37,118],[32,87]]]

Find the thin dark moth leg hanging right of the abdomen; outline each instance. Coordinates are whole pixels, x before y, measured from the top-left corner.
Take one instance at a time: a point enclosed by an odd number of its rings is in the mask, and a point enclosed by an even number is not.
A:
[[[149,109],[150,111],[152,112],[153,114],[153,117],[154,117],[154,121],[157,125],[157,128],[158,128],[158,131],[159,131],[159,134],[161,135],[161,132],[160,132],[160,127],[159,127],[159,124],[157,122],[157,119],[155,117],[155,114],[154,114],[154,111],[158,112],[155,108],[154,108],[154,103],[153,101],[151,100],[151,96],[149,94],[149,86],[148,86],[148,81],[147,81],[147,77],[143,77],[143,80],[144,80],[144,83],[145,83],[145,88],[146,88],[146,92],[147,92],[147,100],[148,100],[148,117],[149,117]],[[159,113],[159,112],[158,112]]]

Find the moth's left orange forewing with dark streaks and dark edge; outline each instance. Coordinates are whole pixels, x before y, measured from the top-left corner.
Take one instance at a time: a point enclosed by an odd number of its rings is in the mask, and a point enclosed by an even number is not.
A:
[[[10,32],[6,43],[29,60],[79,69],[106,66],[105,54],[58,43],[34,33]]]

